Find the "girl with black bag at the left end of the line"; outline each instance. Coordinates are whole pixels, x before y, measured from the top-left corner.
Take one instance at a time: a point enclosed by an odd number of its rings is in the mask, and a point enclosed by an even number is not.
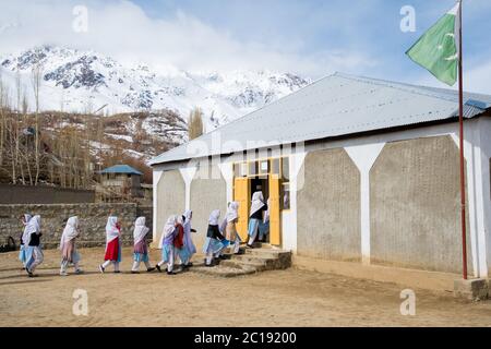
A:
[[[29,277],[35,277],[34,274],[36,267],[44,261],[43,250],[40,246],[40,216],[36,215],[29,219],[26,229],[22,236],[22,241],[24,242],[25,249],[25,270]]]

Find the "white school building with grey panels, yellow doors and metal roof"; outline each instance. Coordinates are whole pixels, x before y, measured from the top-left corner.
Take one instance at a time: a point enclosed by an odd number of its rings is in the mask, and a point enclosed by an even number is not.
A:
[[[469,274],[491,266],[491,96],[465,94]],[[152,161],[154,241],[171,214],[208,215],[252,193],[268,242],[299,256],[462,272],[456,91],[336,73]]]

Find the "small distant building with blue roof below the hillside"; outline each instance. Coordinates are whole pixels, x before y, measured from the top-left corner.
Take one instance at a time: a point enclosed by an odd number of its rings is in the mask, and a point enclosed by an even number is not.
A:
[[[99,171],[97,192],[100,201],[130,201],[143,198],[141,179],[143,173],[128,165],[116,165]]]

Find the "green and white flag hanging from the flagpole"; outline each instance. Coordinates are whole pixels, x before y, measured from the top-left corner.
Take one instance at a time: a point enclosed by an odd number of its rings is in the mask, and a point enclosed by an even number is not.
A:
[[[451,86],[457,81],[459,7],[460,1],[406,52],[411,60]]]

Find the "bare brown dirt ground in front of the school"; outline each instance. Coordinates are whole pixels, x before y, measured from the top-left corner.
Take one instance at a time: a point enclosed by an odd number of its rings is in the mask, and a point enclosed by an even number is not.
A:
[[[403,316],[395,284],[298,269],[131,275],[129,249],[123,274],[100,275],[103,249],[80,252],[84,275],[58,276],[59,252],[45,251],[37,278],[21,270],[16,253],[0,254],[0,326],[491,326],[491,301],[448,292],[415,290],[416,315]],[[73,315],[75,289],[87,291],[87,316]]]

